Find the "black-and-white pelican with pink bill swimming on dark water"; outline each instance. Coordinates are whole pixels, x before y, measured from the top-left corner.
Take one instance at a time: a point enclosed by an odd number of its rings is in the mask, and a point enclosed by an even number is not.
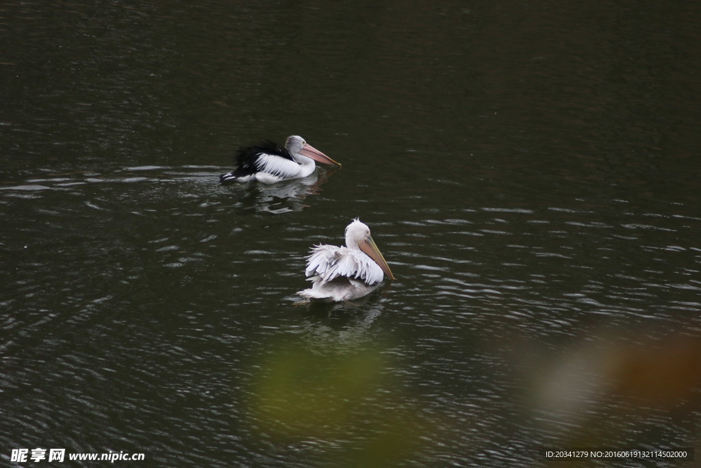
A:
[[[257,180],[264,184],[274,184],[281,180],[302,178],[314,172],[314,161],[341,166],[300,136],[287,137],[284,148],[265,140],[240,149],[236,156],[236,169],[219,175],[219,182]]]

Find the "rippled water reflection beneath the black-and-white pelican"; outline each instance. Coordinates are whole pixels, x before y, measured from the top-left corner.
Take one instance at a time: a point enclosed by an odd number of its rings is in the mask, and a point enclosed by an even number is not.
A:
[[[322,192],[324,185],[337,168],[330,171],[315,171],[305,178],[278,182],[272,185],[249,184],[246,194],[240,199],[237,209],[250,213],[281,215],[308,208],[304,200]]]

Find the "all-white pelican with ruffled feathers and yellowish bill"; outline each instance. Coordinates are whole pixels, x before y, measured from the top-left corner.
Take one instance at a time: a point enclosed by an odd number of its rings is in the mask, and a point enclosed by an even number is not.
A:
[[[394,279],[390,267],[370,236],[370,228],[355,218],[346,227],[346,246],[318,245],[307,257],[309,289],[302,297],[330,299],[336,302],[358,299],[372,293],[382,281],[383,273]]]

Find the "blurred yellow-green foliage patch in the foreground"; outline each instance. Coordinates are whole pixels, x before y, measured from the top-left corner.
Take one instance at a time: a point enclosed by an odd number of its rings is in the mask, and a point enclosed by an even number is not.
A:
[[[334,466],[387,467],[419,447],[423,424],[414,399],[390,376],[381,348],[313,352],[278,345],[256,366],[250,415],[278,443],[334,441]],[[358,443],[360,441],[360,443]]]

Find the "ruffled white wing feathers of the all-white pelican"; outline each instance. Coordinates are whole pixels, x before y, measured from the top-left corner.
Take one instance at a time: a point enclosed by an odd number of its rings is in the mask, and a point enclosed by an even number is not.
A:
[[[306,276],[317,274],[322,281],[332,281],[338,276],[356,278],[366,284],[382,281],[382,269],[372,258],[360,250],[346,247],[316,246],[307,258]]]

